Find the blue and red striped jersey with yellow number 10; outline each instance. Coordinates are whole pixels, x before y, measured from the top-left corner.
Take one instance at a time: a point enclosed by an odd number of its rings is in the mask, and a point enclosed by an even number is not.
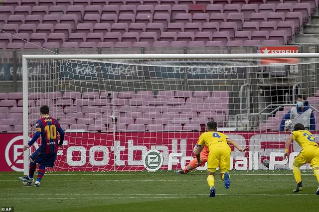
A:
[[[57,132],[62,130],[59,122],[50,116],[40,118],[35,124],[36,132],[41,133],[42,143],[39,151],[42,154],[57,153],[58,136]],[[63,132],[63,130],[62,130]]]

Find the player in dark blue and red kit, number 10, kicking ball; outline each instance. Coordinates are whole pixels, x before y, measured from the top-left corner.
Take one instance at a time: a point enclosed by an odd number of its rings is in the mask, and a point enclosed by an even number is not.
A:
[[[29,175],[25,177],[19,177],[19,179],[32,185],[33,175],[36,169],[36,165],[39,164],[38,175],[34,183],[34,187],[39,187],[41,179],[45,173],[45,167],[53,167],[58,146],[62,146],[64,140],[64,132],[59,122],[49,116],[49,107],[40,107],[41,118],[36,121],[35,134],[30,142],[23,146],[23,150],[26,151],[30,146],[41,136],[42,143],[38,149],[36,149],[30,156]],[[60,142],[58,143],[57,132],[60,134]]]

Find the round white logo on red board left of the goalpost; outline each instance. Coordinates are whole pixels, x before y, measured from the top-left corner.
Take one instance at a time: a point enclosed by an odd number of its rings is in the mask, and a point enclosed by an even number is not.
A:
[[[36,143],[35,145],[37,147]],[[6,145],[4,154],[6,163],[13,171],[23,172],[23,135],[12,138]]]

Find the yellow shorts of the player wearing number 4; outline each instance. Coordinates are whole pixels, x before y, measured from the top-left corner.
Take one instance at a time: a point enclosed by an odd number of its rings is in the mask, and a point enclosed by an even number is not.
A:
[[[227,147],[214,147],[209,150],[207,169],[219,167],[219,169],[230,169],[231,149]]]

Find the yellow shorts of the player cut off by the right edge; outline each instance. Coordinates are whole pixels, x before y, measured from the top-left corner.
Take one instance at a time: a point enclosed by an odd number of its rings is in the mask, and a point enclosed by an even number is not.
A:
[[[309,147],[301,150],[294,161],[294,165],[297,167],[301,167],[306,163],[310,163],[310,166],[319,165],[319,147]]]

